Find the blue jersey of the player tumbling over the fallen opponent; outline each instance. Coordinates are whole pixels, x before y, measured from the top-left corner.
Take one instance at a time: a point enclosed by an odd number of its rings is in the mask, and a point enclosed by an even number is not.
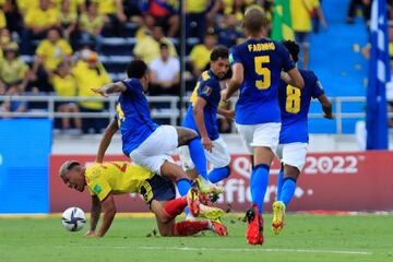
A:
[[[121,131],[123,153],[130,155],[158,126],[151,119],[141,82],[138,79],[127,79],[122,83],[127,91],[119,96],[115,118]]]

